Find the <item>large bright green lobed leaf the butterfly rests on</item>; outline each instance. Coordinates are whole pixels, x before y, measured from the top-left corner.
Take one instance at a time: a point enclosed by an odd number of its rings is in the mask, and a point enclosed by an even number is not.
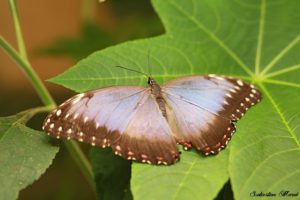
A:
[[[134,197],[212,199],[229,177],[236,199],[252,198],[253,191],[297,192],[300,2],[155,0],[153,5],[165,35],[96,52],[52,81],[78,92],[146,85],[145,77],[115,66],[147,73],[150,51],[152,75],[160,83],[187,74],[225,74],[255,83],[264,99],[237,123],[233,141],[218,156],[186,152],[171,167],[134,163]]]

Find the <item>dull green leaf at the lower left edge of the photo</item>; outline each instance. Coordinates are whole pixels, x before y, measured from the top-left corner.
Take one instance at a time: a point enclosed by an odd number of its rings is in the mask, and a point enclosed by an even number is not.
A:
[[[49,167],[58,147],[42,132],[23,123],[31,111],[0,118],[0,199],[17,199],[20,190],[32,184]]]

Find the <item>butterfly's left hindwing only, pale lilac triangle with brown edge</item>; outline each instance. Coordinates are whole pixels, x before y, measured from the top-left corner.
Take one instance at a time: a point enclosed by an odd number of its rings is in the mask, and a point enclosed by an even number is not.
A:
[[[146,93],[137,107],[124,134],[112,148],[127,159],[173,164],[179,159],[177,144],[155,99]]]

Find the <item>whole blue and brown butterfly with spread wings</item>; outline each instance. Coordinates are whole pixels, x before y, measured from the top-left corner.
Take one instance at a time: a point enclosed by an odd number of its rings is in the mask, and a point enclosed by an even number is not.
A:
[[[260,91],[223,75],[191,75],[160,86],[113,86],[78,94],[45,119],[51,136],[76,139],[148,164],[174,164],[184,150],[204,155],[225,148],[235,123],[258,103]]]

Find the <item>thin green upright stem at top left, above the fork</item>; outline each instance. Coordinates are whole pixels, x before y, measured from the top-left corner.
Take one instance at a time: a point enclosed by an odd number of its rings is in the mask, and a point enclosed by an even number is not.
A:
[[[18,16],[18,10],[17,10],[17,6],[16,6],[16,1],[9,0],[9,6],[10,6],[10,10],[11,10],[11,14],[13,17],[15,30],[16,30],[16,38],[17,38],[17,42],[18,42],[20,56],[27,61],[28,59],[27,59],[27,54],[26,54],[26,47],[25,47],[25,43],[23,40],[22,30],[21,30],[19,16]]]

